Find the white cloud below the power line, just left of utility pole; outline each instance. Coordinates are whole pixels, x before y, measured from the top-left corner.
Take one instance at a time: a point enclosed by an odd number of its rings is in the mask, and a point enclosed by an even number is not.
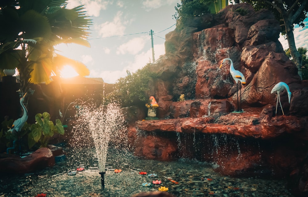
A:
[[[132,54],[136,55],[139,53],[143,48],[145,43],[148,42],[148,36],[141,36],[138,38],[133,38],[129,40],[127,43],[121,44],[116,51],[116,54]]]

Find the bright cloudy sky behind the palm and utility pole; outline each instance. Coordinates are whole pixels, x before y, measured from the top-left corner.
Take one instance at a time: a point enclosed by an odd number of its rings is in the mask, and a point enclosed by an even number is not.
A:
[[[67,8],[85,4],[92,19],[90,48],[77,44],[61,44],[58,53],[83,62],[90,70],[87,77],[100,77],[106,83],[115,83],[120,77],[152,62],[153,34],[154,59],[165,53],[165,35],[175,29],[175,6],[180,0],[69,0]],[[306,28],[296,27],[296,47],[308,48],[308,20]],[[287,41],[280,36],[284,49]],[[63,76],[74,74],[71,69]]]

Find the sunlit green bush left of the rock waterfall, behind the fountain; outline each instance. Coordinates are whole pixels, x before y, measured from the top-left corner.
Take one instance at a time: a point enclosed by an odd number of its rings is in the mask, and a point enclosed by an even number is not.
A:
[[[156,79],[160,73],[151,71],[147,64],[135,73],[127,71],[126,77],[121,77],[115,83],[114,91],[108,94],[105,102],[118,101],[122,107],[145,103],[148,101],[146,92],[149,91],[149,81]]]

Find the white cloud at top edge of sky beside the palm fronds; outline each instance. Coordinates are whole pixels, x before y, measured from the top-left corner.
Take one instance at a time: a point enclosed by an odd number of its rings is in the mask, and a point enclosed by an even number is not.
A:
[[[79,5],[85,4],[85,10],[89,16],[99,16],[100,10],[106,10],[110,1],[103,0],[69,0],[67,8],[71,9]]]

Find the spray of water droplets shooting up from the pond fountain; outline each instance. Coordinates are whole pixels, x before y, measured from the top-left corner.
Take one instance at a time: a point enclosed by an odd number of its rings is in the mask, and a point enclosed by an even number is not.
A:
[[[105,172],[108,145],[119,148],[127,142],[125,134],[124,114],[116,103],[103,106],[94,104],[80,105],[76,115],[76,127],[74,127],[73,146],[95,146],[98,159],[99,172]],[[79,151],[76,150],[74,157],[78,159]],[[80,159],[80,158],[79,158]]]

